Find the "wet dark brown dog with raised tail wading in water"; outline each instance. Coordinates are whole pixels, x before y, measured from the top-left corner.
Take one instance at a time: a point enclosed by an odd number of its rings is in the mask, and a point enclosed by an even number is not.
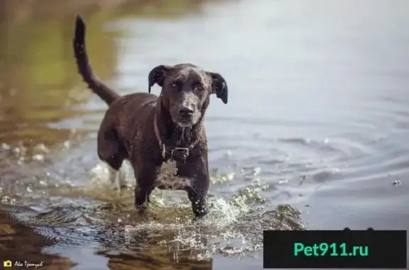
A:
[[[156,187],[178,189],[187,191],[197,217],[206,215],[209,169],[203,118],[210,94],[227,103],[224,78],[193,64],[160,65],[148,75],[149,93],[158,84],[160,96],[119,96],[92,71],[80,16],[73,45],[82,78],[109,105],[98,132],[98,155],[109,164],[111,181],[121,182],[119,169],[128,159],[136,177],[137,208],[144,208]]]

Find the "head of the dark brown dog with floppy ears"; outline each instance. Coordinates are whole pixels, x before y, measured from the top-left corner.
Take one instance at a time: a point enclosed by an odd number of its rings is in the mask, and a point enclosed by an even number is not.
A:
[[[160,65],[148,76],[149,93],[154,84],[162,87],[160,101],[173,122],[181,127],[195,125],[205,113],[210,94],[227,103],[227,83],[214,72],[193,64]]]

